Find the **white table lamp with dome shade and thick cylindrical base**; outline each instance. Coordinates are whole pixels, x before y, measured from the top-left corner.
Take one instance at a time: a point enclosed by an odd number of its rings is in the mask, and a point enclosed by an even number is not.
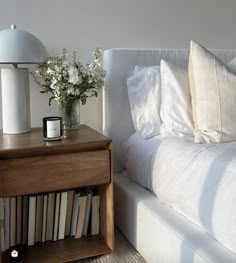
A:
[[[34,35],[16,29],[15,25],[0,31],[0,64],[13,66],[1,69],[4,133],[30,132],[29,70],[18,68],[18,64],[38,64],[46,58],[46,48]]]

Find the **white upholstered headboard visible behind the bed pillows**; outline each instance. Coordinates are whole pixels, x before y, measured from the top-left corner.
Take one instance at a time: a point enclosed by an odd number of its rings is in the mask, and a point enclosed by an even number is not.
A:
[[[222,61],[236,56],[234,50],[212,50]],[[103,92],[103,132],[112,138],[114,171],[122,171],[121,148],[123,142],[134,132],[126,80],[133,74],[135,65],[159,65],[161,59],[182,67],[188,66],[187,49],[110,49],[103,54],[103,67],[107,72]]]

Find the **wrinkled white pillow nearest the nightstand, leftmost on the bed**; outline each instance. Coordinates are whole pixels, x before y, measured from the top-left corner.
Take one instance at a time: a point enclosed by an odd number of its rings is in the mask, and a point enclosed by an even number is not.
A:
[[[131,115],[144,139],[160,134],[160,67],[147,67],[127,80]]]

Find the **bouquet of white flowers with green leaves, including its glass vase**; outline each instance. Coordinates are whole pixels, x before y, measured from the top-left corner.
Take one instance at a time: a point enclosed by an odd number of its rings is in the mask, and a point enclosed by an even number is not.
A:
[[[60,57],[49,57],[31,73],[34,80],[42,88],[41,93],[50,94],[52,100],[59,104],[65,129],[76,129],[79,125],[80,102],[82,105],[90,97],[97,97],[104,87],[105,71],[101,66],[102,51],[97,48],[94,60],[86,66],[72,54],[68,60],[67,50],[63,49]]]

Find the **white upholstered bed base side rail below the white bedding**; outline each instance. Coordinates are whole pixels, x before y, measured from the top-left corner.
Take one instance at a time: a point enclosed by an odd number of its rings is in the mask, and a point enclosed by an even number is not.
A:
[[[148,263],[235,263],[236,255],[147,189],[114,176],[115,224]]]

